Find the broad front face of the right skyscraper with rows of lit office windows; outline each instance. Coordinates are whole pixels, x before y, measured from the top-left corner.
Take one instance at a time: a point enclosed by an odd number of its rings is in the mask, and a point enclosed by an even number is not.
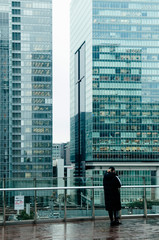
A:
[[[159,159],[158,8],[93,1],[95,161]]]

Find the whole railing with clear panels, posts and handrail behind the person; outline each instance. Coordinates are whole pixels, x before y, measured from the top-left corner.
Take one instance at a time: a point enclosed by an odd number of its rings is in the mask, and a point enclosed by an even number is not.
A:
[[[130,201],[131,195],[136,196]],[[122,186],[122,217],[157,216],[159,185]],[[102,186],[0,188],[0,224],[105,218]]]

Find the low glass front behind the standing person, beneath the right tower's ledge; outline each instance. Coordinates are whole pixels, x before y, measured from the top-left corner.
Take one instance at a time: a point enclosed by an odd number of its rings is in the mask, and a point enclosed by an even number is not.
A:
[[[89,169],[86,171],[86,177],[89,178],[90,176],[93,178],[93,185],[94,186],[103,186],[103,175],[105,170],[102,169]],[[135,186],[135,185],[153,185],[158,180],[153,177],[155,171],[149,169],[140,169],[140,170],[118,170],[117,174],[120,176],[120,180],[123,186]],[[158,190],[157,190],[158,191]],[[155,192],[155,191],[154,191]],[[148,188],[146,190],[146,196],[148,199],[153,198],[156,193],[154,193],[152,189]],[[100,189],[95,189],[95,203],[96,204],[104,204],[104,192]],[[88,191],[88,195],[89,195]],[[123,188],[121,190],[121,202],[122,205],[128,202],[135,202],[135,201],[142,201],[141,198],[143,197],[143,188]]]

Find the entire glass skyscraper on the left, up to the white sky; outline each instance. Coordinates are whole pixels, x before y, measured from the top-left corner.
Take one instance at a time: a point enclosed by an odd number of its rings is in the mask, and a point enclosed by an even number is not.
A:
[[[0,177],[52,176],[52,0],[0,1]]]

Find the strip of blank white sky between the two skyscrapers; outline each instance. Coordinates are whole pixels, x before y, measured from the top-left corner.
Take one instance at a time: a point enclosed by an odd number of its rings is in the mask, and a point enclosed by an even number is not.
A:
[[[69,9],[71,0],[53,0],[53,142],[70,140]]]

